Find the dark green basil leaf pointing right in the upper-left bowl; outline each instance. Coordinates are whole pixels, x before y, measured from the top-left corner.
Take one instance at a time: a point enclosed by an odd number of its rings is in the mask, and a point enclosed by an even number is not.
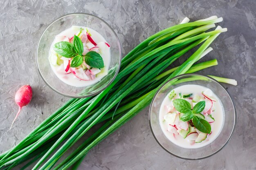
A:
[[[97,53],[95,51],[89,51],[88,53],[86,53],[85,62],[86,62],[86,64],[88,64],[89,66],[94,67],[94,68],[103,68],[104,67],[104,62],[103,62],[101,55],[99,55],[99,53]]]

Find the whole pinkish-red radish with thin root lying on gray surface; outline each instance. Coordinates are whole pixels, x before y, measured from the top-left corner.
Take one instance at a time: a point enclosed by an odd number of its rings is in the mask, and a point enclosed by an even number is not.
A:
[[[15,95],[15,102],[16,104],[19,106],[19,110],[18,113],[16,114],[16,117],[14,118],[11,127],[14,123],[14,121],[17,119],[18,115],[20,114],[20,110],[23,106],[27,106],[29,104],[29,102],[31,101],[32,98],[32,88],[31,86],[24,85],[21,86],[18,91],[16,92]],[[10,128],[11,129],[11,128]]]

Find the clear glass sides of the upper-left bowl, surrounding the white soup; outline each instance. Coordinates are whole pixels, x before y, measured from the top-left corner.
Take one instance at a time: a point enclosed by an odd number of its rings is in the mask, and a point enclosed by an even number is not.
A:
[[[52,71],[49,50],[57,34],[72,25],[85,26],[100,33],[110,44],[110,66],[108,75],[99,82],[85,87],[74,87],[62,82]],[[96,95],[107,88],[115,79],[121,64],[121,45],[115,31],[101,18],[88,13],[70,13],[54,20],[41,35],[36,48],[36,64],[45,83],[57,93],[73,98]]]

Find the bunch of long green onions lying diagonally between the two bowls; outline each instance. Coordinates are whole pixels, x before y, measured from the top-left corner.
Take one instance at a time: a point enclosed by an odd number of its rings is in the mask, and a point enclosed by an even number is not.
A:
[[[147,107],[157,90],[169,79],[184,73],[194,73],[217,65],[217,60],[195,64],[211,51],[209,45],[222,32],[220,26],[205,32],[222,18],[212,16],[164,29],[136,46],[121,62],[115,80],[94,97],[70,99],[35,128],[15,147],[0,155],[0,169],[10,170],[30,160],[21,170],[36,162],[32,170],[75,170],[90,149]],[[200,47],[181,66],[165,71],[175,60],[195,46]],[[236,85],[236,81],[222,77],[219,82]],[[58,160],[88,130],[96,124],[100,128],[63,161]],[[53,154],[54,153],[54,154]]]

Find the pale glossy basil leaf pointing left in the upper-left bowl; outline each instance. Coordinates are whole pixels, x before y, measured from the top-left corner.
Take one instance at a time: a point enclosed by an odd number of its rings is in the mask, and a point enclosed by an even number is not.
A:
[[[77,55],[74,51],[74,46],[70,42],[57,42],[53,46],[54,51],[63,57],[71,58]]]

